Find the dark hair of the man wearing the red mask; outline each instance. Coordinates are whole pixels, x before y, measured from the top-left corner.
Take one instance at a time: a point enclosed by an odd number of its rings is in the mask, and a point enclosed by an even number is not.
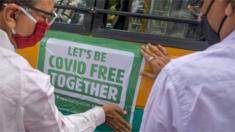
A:
[[[39,0],[0,0],[0,11],[4,8],[4,3],[16,3],[20,5],[34,6]]]

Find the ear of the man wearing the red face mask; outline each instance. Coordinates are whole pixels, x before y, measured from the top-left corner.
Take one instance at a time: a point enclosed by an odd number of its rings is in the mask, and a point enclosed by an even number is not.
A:
[[[16,4],[5,4],[3,9],[3,19],[8,28],[13,29],[16,26],[17,19],[21,13]]]

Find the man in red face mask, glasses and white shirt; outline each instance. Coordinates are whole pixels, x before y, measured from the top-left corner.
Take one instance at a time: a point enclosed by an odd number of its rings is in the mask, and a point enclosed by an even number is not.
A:
[[[15,53],[42,39],[56,18],[53,10],[53,0],[0,0],[0,131],[91,132],[104,122],[115,131],[130,131],[121,117],[126,112],[115,105],[62,115],[50,77]]]

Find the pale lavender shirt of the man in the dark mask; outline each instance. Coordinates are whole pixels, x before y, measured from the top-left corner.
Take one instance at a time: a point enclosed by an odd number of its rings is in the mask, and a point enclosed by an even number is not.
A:
[[[163,69],[141,132],[235,132],[235,31]]]

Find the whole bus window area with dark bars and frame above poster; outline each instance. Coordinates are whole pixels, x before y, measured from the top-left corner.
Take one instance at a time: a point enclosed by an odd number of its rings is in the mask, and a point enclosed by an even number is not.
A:
[[[57,0],[59,17],[51,29],[202,50],[208,44],[195,15],[199,4],[200,0]]]

